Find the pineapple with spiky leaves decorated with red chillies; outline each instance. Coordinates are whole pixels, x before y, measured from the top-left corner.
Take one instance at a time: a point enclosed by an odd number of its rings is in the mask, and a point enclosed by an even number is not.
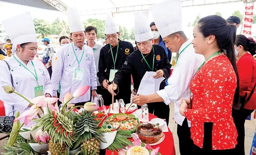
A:
[[[43,115],[37,121],[38,123],[32,130],[41,126],[42,131],[48,132],[51,138],[49,150],[53,155],[58,155],[58,151],[64,154],[67,146],[73,146],[73,120],[62,113],[49,110],[48,114]]]

